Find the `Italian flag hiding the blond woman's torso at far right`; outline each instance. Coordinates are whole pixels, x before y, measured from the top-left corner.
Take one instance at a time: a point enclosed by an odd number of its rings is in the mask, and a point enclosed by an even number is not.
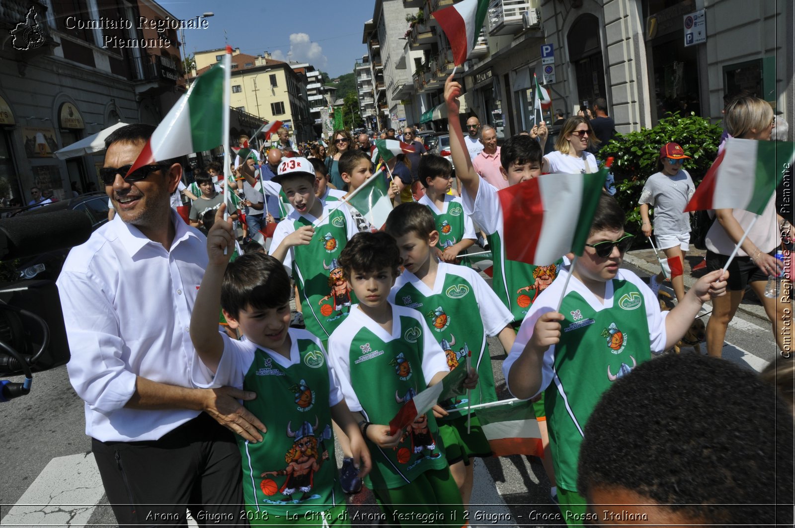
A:
[[[728,138],[704,180],[684,208],[688,211],[743,209],[761,215],[793,164],[793,142]]]

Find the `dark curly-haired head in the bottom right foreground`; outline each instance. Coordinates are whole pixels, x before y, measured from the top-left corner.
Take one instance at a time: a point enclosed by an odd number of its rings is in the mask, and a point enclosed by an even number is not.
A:
[[[638,365],[585,426],[577,487],[588,514],[611,525],[793,526],[788,411],[754,371],[724,359]]]

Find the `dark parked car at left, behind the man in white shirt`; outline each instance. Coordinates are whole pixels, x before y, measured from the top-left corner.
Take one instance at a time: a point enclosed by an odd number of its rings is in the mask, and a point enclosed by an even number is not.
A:
[[[89,192],[71,200],[60,200],[53,204],[41,205],[36,208],[21,209],[17,212],[17,215],[40,215],[47,212],[63,211],[64,209],[82,211],[91,219],[91,231],[96,231],[107,223],[107,200],[107,194],[104,192]],[[49,279],[51,281],[58,278],[69,250],[47,251],[46,247],[42,247],[42,250],[44,252],[41,254],[20,260],[17,266],[19,278]]]

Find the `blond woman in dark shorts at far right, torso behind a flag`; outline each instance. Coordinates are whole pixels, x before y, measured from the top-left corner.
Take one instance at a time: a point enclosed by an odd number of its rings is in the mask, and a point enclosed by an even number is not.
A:
[[[768,141],[774,125],[773,110],[758,97],[740,96],[727,105],[723,123],[732,138]],[[731,145],[727,148],[731,149]],[[789,298],[784,302],[783,295],[770,298],[764,294],[767,279],[778,277],[784,269],[784,264],[775,257],[781,238],[792,235],[792,226],[778,215],[775,203],[774,193],[762,215],[737,209],[715,210],[715,222],[709,228],[706,238],[707,270],[723,269],[743,233],[755,218],[758,219],[728,268],[728,295],[712,302],[712,316],[707,323],[709,355],[720,357],[726,328],[743,301],[747,285],[750,285],[750,289],[762,301],[765,313],[773,324],[778,347],[781,351],[789,350],[790,344],[786,343],[792,336],[787,330],[792,328]]]

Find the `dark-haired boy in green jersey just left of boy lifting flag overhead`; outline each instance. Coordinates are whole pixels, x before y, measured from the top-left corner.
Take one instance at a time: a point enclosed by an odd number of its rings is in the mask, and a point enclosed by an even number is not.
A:
[[[426,154],[420,158],[417,171],[425,187],[425,194],[417,202],[433,215],[439,234],[436,247],[441,251],[442,260],[455,264],[458,255],[475,244],[477,235],[472,219],[463,214],[461,199],[448,194],[452,188],[452,165],[444,157]]]

